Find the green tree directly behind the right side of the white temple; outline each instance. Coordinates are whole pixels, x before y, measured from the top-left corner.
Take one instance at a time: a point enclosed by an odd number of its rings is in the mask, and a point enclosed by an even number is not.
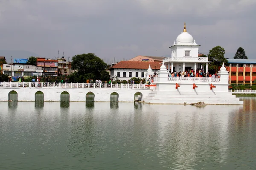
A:
[[[221,46],[216,46],[209,51],[208,59],[209,63],[208,70],[212,73],[217,73],[218,68],[224,62],[224,65],[227,65],[227,59],[224,57],[225,50]]]

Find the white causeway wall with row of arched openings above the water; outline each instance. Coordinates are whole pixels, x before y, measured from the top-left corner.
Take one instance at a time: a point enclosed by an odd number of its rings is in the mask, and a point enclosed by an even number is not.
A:
[[[142,93],[142,99],[152,91],[150,89],[98,89],[98,88],[0,88],[0,101],[8,101],[10,91],[16,91],[18,101],[35,101],[35,93],[42,91],[44,101],[59,102],[63,91],[70,94],[71,102],[85,102],[85,96],[88,92],[93,92],[95,102],[110,102],[110,95],[113,92],[119,94],[119,102],[134,102],[134,94]]]

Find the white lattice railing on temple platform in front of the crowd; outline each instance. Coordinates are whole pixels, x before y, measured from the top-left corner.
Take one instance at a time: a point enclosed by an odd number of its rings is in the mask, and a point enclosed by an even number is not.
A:
[[[220,78],[212,77],[168,77],[168,82],[221,82]]]

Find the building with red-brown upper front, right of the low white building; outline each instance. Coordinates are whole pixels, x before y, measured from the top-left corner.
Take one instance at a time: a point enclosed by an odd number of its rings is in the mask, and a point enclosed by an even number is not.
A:
[[[58,76],[58,60],[37,58],[36,64],[38,67],[42,67],[43,76]]]

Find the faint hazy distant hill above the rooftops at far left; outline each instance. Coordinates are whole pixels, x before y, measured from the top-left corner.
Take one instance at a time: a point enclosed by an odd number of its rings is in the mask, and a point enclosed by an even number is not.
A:
[[[23,51],[23,50],[0,50],[0,56],[4,56],[7,62],[11,62],[11,56],[13,59],[15,58],[29,58],[30,56],[40,57],[40,55],[31,52],[31,51]],[[12,60],[13,61],[13,60]]]

